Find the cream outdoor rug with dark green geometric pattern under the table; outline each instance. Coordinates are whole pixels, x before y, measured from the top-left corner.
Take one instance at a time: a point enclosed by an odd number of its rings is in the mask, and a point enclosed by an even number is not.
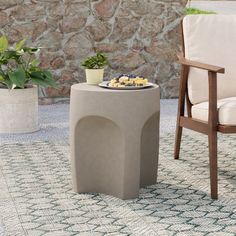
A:
[[[217,201],[203,135],[184,135],[180,160],[174,135],[162,136],[157,184],[126,201],[74,193],[68,143],[1,145],[0,235],[236,235],[235,137],[219,137]]]

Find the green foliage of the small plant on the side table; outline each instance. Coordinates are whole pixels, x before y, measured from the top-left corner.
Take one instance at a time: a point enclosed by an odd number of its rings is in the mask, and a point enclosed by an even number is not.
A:
[[[81,64],[86,69],[103,69],[109,65],[108,58],[103,53],[98,52],[92,57],[87,57]]]

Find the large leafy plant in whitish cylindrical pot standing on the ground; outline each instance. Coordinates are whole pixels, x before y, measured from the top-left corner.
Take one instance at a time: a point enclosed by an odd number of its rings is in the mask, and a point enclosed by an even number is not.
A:
[[[8,39],[0,37],[0,133],[37,131],[37,87],[57,87],[51,72],[39,67],[39,48],[25,42],[10,47]]]

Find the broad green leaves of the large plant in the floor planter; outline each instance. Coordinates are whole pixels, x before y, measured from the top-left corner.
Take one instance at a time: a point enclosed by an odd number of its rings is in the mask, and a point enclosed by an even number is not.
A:
[[[40,48],[26,47],[26,39],[10,47],[6,36],[0,37],[0,88],[27,88],[32,85],[57,85],[50,71],[39,67],[36,53]]]

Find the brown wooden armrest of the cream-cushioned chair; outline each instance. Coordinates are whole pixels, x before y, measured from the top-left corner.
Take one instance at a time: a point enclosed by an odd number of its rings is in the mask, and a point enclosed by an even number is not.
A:
[[[225,68],[222,68],[219,66],[213,66],[213,65],[209,65],[209,64],[205,64],[205,63],[201,63],[201,62],[197,62],[197,61],[191,61],[191,60],[184,58],[182,55],[177,55],[177,56],[179,59],[179,63],[181,65],[195,67],[198,69],[207,70],[207,71],[215,72],[215,73],[221,73],[221,74],[225,73]]]

